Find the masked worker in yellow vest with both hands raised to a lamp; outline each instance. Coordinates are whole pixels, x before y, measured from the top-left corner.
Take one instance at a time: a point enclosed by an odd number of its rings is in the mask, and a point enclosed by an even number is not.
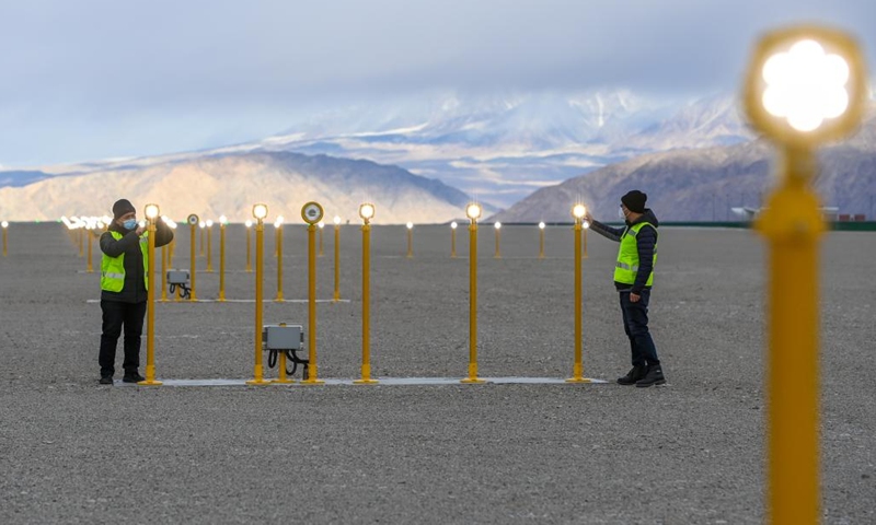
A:
[[[157,221],[155,246],[173,241],[173,230]],[[140,336],[147,307],[149,232],[137,223],[137,210],[127,199],[113,205],[113,222],[101,235],[101,310],[103,332],[97,362],[102,385],[113,384],[116,346],[125,330],[125,383],[139,383]]]

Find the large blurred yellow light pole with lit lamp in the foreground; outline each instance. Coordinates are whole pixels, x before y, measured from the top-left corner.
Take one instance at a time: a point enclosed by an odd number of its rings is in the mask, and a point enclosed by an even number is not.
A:
[[[745,84],[753,127],[782,173],[757,230],[769,244],[769,521],[819,523],[818,247],[826,225],[811,184],[819,144],[850,135],[866,108],[864,59],[848,35],[803,26],[764,35]]]

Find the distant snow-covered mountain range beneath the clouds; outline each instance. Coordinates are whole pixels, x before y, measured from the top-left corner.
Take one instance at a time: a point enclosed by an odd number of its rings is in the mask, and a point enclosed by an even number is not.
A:
[[[347,131],[338,132],[343,122]],[[538,188],[638,154],[748,138],[729,96],[683,104],[630,91],[450,93],[327,112],[252,145],[397,164],[510,206]]]

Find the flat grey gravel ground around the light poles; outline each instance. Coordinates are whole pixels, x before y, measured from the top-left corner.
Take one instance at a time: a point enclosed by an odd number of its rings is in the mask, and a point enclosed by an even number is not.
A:
[[[229,299],[252,299],[243,228],[229,228]],[[284,294],[304,299],[306,236],[285,229]],[[218,232],[216,232],[218,233]],[[331,299],[325,231],[320,299]],[[573,359],[568,228],[492,228],[480,243],[482,376],[566,377]],[[342,229],[343,299],[319,305],[319,374],[357,377],[360,234]],[[584,264],[585,374],[629,368],[611,268]],[[876,523],[872,234],[831,233],[822,264],[825,523]],[[174,266],[188,266],[181,231]],[[372,237],[373,375],[462,377],[468,232]],[[276,295],[273,228],[265,296]],[[218,254],[218,235],[214,237]],[[94,253],[95,268],[100,258]],[[212,266],[218,270],[218,258]],[[198,258],[197,294],[218,273]],[[764,514],[763,268],[751,232],[661,229],[652,329],[669,385],[99,386],[97,273],[59,224],[13,224],[0,258],[2,523],[760,523]],[[159,378],[253,374],[253,303],[157,305]],[[307,325],[307,304],[265,304]],[[146,361],[146,350],[141,361]],[[117,355],[120,370],[122,349]],[[142,372],[142,369],[141,369]],[[275,376],[276,371],[267,371]]]

